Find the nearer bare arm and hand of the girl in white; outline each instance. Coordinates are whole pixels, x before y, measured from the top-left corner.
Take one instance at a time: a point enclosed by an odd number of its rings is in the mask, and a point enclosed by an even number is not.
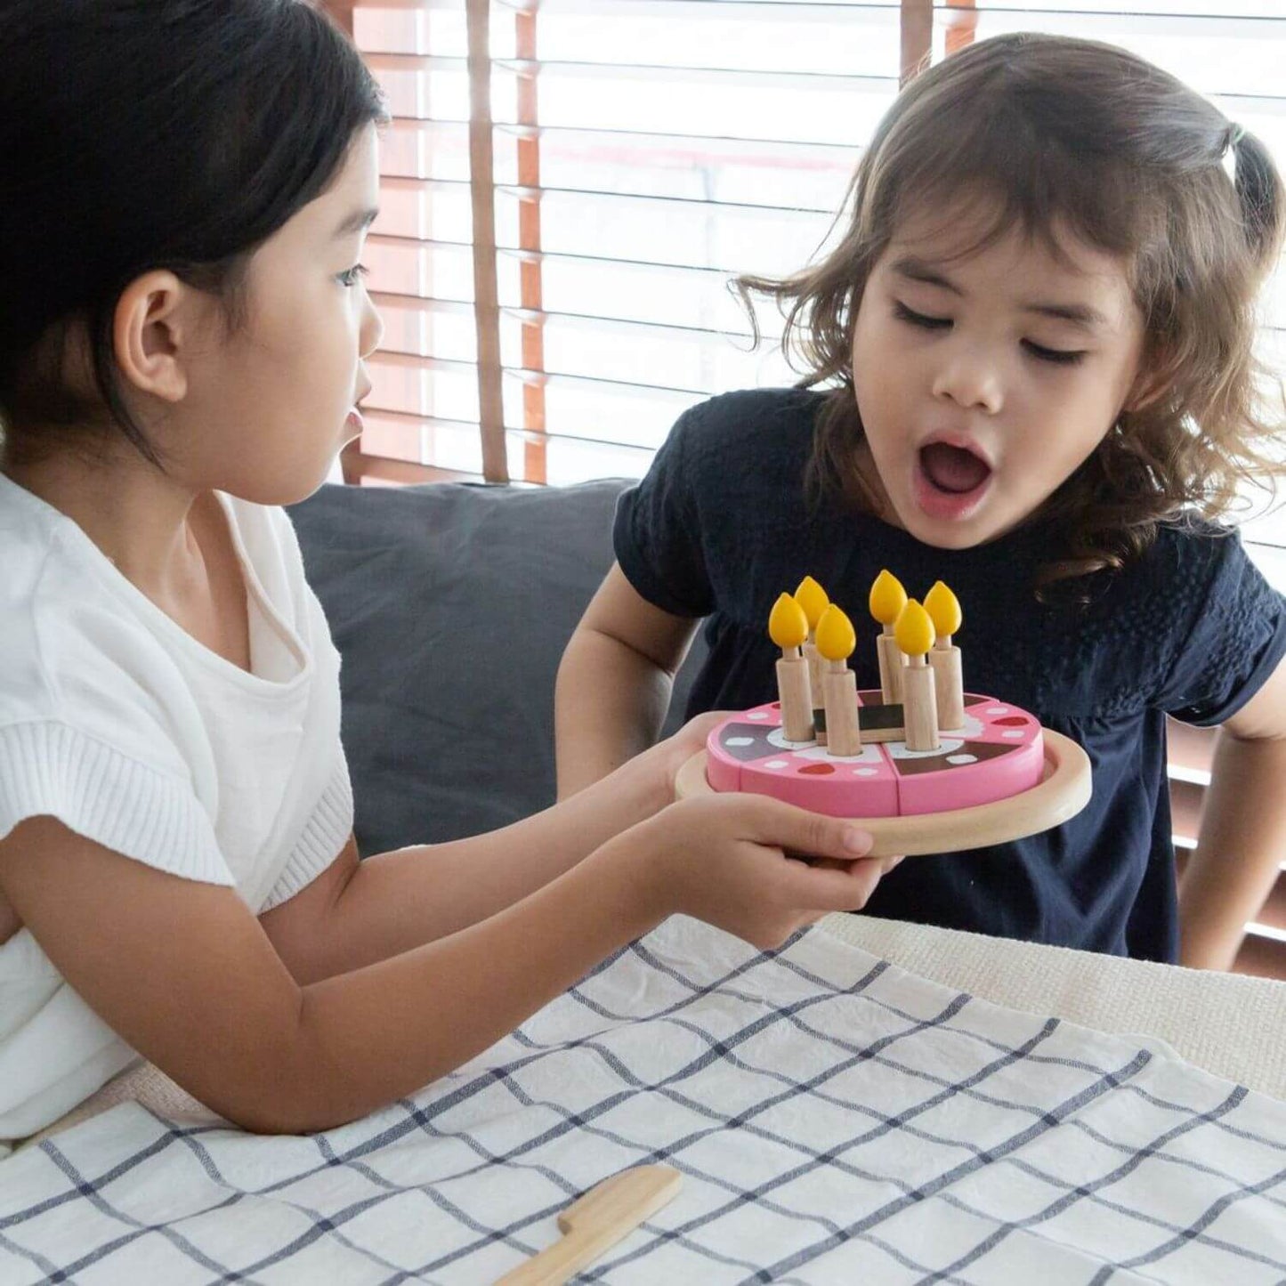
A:
[[[788,860],[783,846],[844,869]],[[775,800],[689,800],[480,923],[307,985],[233,890],[132,862],[53,818],[0,840],[0,891],[139,1053],[230,1120],[302,1132],[458,1067],[671,910],[766,946],[864,905],[881,864],[853,859],[868,847],[840,819]]]

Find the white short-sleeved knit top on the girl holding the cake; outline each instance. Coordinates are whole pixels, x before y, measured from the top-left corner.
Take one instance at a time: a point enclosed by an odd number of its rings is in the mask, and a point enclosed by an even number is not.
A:
[[[352,793],[340,656],[289,518],[219,499],[247,586],[252,673],[0,475],[0,837],[53,815],[150,867],[235,887],[257,914],[334,860]],[[28,930],[0,945],[0,1155],[135,1057]]]

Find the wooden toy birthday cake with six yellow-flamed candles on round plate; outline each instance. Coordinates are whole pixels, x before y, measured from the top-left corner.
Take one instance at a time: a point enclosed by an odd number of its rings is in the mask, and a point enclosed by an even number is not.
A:
[[[779,700],[719,724],[679,793],[772,795],[851,817],[877,853],[944,853],[1048,829],[1084,808],[1089,763],[1069,738],[1003,698],[967,693],[955,595],[923,604],[881,572],[871,589],[878,691],[858,691],[849,617],[811,576],[782,594],[768,631],[782,648]]]

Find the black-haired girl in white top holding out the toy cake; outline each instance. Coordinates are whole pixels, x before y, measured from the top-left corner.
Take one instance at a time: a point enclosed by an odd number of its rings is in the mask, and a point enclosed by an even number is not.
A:
[[[666,806],[709,719],[358,862],[280,505],[360,430],[377,89],[300,0],[0,0],[0,1145],[139,1055],[249,1128],[331,1125],[671,912],[773,945],[860,907],[851,826]]]

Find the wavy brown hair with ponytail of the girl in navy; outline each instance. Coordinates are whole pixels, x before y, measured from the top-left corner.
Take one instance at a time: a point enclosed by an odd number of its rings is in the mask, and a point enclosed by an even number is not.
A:
[[[1034,33],[983,41],[913,80],[862,157],[835,248],[792,276],[736,283],[747,306],[752,291],[775,298],[801,386],[833,386],[811,484],[871,507],[854,460],[858,305],[899,221],[962,198],[995,212],[979,247],[1021,228],[1056,251],[1070,234],[1124,258],[1145,323],[1157,392],[1123,412],[1033,516],[1067,553],[1042,584],[1121,566],[1161,522],[1218,518],[1247,481],[1272,490],[1282,423],[1254,355],[1255,296],[1281,246],[1281,176],[1263,143],[1166,72],[1112,45]]]

